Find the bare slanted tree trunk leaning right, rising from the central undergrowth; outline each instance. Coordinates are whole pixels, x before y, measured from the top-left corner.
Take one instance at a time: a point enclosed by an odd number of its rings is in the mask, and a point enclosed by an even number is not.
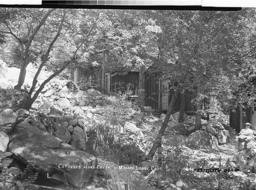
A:
[[[157,137],[156,137],[156,139],[154,141],[154,144],[153,144],[150,152],[148,153],[148,156],[151,157],[151,158],[154,157],[154,155],[156,153],[156,150],[161,145],[163,133],[164,133],[164,131],[165,131],[166,127],[167,127],[167,124],[169,122],[170,115],[172,114],[172,112],[174,110],[175,102],[176,102],[176,100],[178,98],[179,93],[180,93],[180,84],[178,85],[177,89],[175,90],[175,92],[173,94],[173,97],[172,97],[172,100],[170,101],[170,104],[169,104],[167,113],[165,115],[162,127],[159,130],[159,132],[158,132],[158,135],[157,135]]]

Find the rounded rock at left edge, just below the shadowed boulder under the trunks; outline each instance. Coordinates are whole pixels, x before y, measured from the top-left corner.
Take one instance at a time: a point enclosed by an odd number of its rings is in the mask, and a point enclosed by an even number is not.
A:
[[[0,130],[5,132],[6,134],[10,133],[17,122],[17,118],[17,115],[11,109],[6,109],[1,112]]]

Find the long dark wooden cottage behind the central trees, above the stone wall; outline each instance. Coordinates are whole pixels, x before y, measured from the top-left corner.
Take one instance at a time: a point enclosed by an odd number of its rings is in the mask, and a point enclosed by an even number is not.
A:
[[[89,69],[75,69],[72,76],[75,82],[84,79],[86,84],[94,88],[96,87],[102,93],[107,94],[110,92],[131,90],[132,94],[130,98],[133,100],[138,98],[139,72],[128,72],[126,75],[106,73],[104,74],[105,80],[102,82],[101,68],[90,67]],[[169,90],[168,82],[160,80],[157,74],[146,75],[144,81],[145,106],[151,106],[155,110],[167,110],[174,94],[173,89]],[[191,103],[191,100],[195,98],[193,92],[185,94],[185,113],[193,114],[196,112],[196,106]],[[180,96],[176,101],[175,111],[179,111],[179,109]]]

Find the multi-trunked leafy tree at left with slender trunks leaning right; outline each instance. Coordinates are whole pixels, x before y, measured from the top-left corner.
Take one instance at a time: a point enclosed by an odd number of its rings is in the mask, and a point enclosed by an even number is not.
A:
[[[39,49],[40,66],[30,90],[32,96],[37,76],[45,64],[59,64],[55,73],[45,80],[33,94],[29,108],[40,91],[55,76],[72,64],[86,62],[92,53],[93,44],[101,36],[102,30],[94,31],[100,22],[99,11],[72,9],[5,9],[10,17],[1,20],[0,33],[10,34],[20,44],[23,55],[20,67],[20,88],[26,76],[29,55]],[[106,30],[106,28],[104,28]],[[89,38],[90,36],[90,38]]]

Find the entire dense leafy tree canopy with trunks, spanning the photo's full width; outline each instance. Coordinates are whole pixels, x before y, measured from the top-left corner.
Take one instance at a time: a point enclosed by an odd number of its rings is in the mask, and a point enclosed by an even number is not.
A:
[[[54,72],[33,94],[35,101],[51,79],[71,67],[101,66],[103,74],[140,73],[143,106],[145,71],[168,80],[175,94],[197,94],[197,126],[204,98],[215,97],[223,109],[253,105],[255,100],[255,9],[238,12],[167,10],[93,10],[2,8],[1,58],[20,68],[21,88],[29,62]],[[103,76],[104,79],[104,76]],[[159,142],[159,139],[156,142]],[[161,140],[160,140],[161,141]],[[159,146],[155,144],[151,156]]]

